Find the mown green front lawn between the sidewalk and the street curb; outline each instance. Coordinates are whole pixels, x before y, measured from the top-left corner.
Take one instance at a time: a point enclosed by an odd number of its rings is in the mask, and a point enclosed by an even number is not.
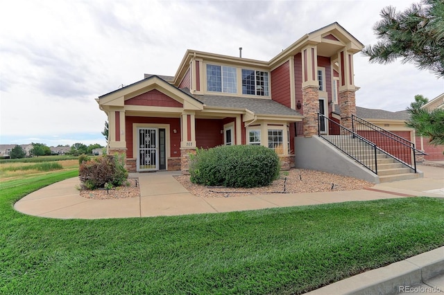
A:
[[[0,183],[0,294],[300,294],[444,245],[444,199],[53,220],[17,199],[76,171]]]

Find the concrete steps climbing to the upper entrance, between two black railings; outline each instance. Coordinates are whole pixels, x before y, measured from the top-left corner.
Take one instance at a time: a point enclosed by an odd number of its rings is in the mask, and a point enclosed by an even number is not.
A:
[[[365,166],[375,170],[375,150],[372,146],[359,141],[357,138],[350,138],[350,136],[327,135],[323,137],[340,147],[345,154],[358,159]],[[379,150],[376,153],[376,162],[377,176],[381,183],[422,177],[422,174],[415,173],[413,169]],[[357,165],[361,165],[361,163],[357,162]]]

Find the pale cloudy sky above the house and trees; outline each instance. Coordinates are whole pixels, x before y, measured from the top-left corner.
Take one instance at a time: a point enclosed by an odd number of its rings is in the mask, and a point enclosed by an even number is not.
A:
[[[174,75],[187,48],[268,61],[334,21],[374,44],[382,8],[418,1],[2,0],[0,143],[105,145],[94,99],[144,73]],[[355,84],[357,105],[388,111],[444,92],[434,73],[360,53]]]

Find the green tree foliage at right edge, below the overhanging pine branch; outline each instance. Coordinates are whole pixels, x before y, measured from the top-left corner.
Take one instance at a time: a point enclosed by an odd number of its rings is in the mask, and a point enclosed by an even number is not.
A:
[[[428,136],[430,143],[442,145],[444,144],[444,109],[429,111],[422,108],[427,102],[427,98],[421,95],[415,96],[415,101],[411,102],[410,107],[407,108],[411,116],[406,124],[408,127],[415,128],[419,135]]]

